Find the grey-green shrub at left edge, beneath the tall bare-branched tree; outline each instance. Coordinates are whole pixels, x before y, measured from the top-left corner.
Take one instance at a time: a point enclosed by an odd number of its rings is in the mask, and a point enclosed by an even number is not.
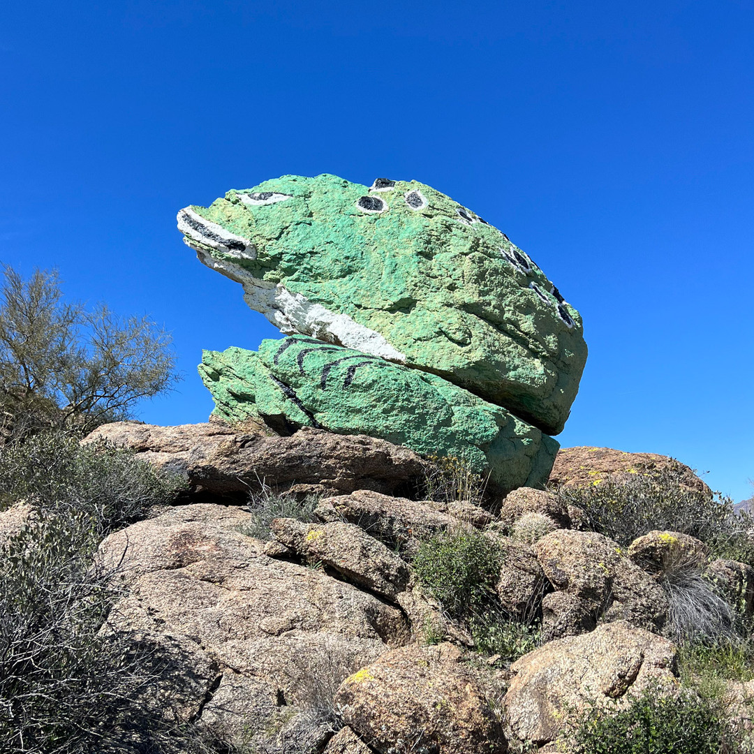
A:
[[[94,539],[170,501],[182,484],[127,449],[82,446],[65,434],[0,447],[0,508],[26,498],[44,515],[85,515]]]

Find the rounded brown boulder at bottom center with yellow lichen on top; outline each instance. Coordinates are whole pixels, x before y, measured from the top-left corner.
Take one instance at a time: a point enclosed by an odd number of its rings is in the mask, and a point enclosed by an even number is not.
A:
[[[459,656],[446,644],[385,652],[342,683],[340,716],[380,754],[503,752],[501,725]]]

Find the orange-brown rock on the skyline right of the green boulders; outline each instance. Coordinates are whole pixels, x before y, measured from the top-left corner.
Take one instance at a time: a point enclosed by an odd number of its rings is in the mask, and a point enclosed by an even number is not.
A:
[[[612,448],[561,448],[550,472],[550,486],[589,487],[601,481],[622,482],[637,474],[670,472],[685,489],[712,497],[712,491],[686,464],[657,453],[628,453]]]

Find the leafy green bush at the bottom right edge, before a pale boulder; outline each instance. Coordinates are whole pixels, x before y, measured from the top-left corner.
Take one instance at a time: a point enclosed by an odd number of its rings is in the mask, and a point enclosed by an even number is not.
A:
[[[591,706],[575,739],[582,754],[719,754],[724,726],[709,700],[648,688],[624,710]]]

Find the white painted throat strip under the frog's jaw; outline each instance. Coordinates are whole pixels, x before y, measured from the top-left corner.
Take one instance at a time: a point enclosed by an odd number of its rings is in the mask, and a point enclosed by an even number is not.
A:
[[[264,314],[285,335],[308,335],[334,345],[354,348],[363,354],[399,364],[406,363],[406,355],[390,345],[384,336],[360,325],[347,314],[335,314],[323,305],[309,301],[301,293],[292,293],[280,283],[259,280],[233,262],[215,259],[207,250],[194,246],[190,238],[183,241],[195,250],[204,265],[240,283],[244,287],[244,301],[249,308]]]

